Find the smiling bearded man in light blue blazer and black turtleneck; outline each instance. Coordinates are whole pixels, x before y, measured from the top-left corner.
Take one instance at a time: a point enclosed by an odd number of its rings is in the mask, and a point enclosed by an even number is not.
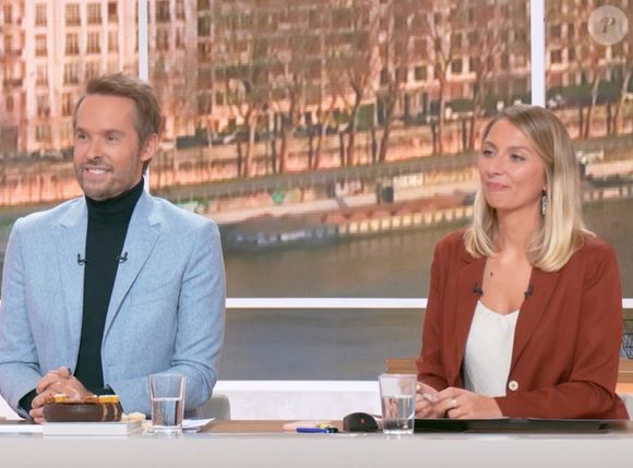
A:
[[[4,260],[0,393],[41,422],[45,398],[116,393],[151,412],[147,375],[187,376],[186,410],[217,377],[225,278],[216,225],[155,199],[143,173],[162,116],[145,83],[92,80],[73,116],[83,197],[19,219]]]

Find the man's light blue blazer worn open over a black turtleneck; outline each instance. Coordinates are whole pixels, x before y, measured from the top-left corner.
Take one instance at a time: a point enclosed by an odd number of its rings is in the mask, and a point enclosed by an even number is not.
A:
[[[85,199],[19,219],[4,259],[0,393],[20,398],[47,371],[76,365],[87,230]],[[143,192],[130,220],[108,308],[104,383],[123,410],[151,413],[147,375],[187,375],[186,410],[205,403],[224,339],[225,276],[217,226]],[[87,259],[89,262],[89,259]]]

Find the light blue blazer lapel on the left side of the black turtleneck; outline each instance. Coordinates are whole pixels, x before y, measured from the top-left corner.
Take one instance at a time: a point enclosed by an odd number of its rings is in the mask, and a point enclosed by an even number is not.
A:
[[[79,353],[83,296],[84,266],[77,255],[83,259],[86,249],[87,207],[84,199],[77,200],[59,221],[55,231],[57,265],[61,280],[61,293],[65,304],[65,315],[70,331],[70,355],[76,359]]]

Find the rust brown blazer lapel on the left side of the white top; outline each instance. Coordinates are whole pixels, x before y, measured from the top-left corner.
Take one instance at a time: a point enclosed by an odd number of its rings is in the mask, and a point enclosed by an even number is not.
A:
[[[455,295],[457,297],[457,303],[454,309],[456,315],[453,316],[453,323],[449,324],[455,333],[453,339],[453,360],[451,365],[451,370],[454,371],[454,375],[451,375],[453,379],[459,376],[461,373],[466,339],[470,332],[475,307],[480,298],[478,293],[474,292],[474,289],[481,288],[486,259],[474,259],[468,253],[464,252],[463,264],[464,267],[458,272],[456,281],[457,290],[455,291]]]

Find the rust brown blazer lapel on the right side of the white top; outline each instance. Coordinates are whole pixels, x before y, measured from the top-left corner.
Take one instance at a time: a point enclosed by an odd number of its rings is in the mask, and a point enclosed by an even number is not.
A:
[[[559,276],[559,272],[546,273],[538,268],[532,269],[532,278],[529,279],[530,295],[523,301],[516,320],[512,363],[510,365],[511,372],[536,331],[546,305],[557,287]]]

